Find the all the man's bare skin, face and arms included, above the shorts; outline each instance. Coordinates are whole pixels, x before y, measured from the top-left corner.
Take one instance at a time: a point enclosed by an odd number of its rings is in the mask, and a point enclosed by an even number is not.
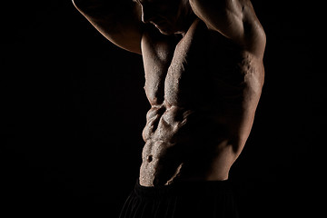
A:
[[[251,2],[104,2],[74,5],[112,43],[143,55],[151,108],[140,184],[228,179],[263,87],[265,35]]]

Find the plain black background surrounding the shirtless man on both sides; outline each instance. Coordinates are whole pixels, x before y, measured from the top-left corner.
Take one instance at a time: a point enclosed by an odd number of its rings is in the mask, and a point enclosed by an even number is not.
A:
[[[314,63],[316,9],[285,2],[253,1],[267,35],[266,77],[230,175],[243,217],[312,215],[319,207],[326,114]],[[117,217],[144,145],[142,57],[110,44],[70,0],[0,6],[0,207]]]

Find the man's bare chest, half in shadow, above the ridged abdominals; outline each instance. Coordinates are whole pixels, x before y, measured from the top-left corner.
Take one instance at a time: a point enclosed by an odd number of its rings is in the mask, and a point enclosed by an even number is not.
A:
[[[199,105],[213,95],[226,94],[226,90],[217,89],[223,88],[224,77],[235,76],[232,86],[242,82],[242,72],[235,70],[242,61],[234,51],[220,47],[218,40],[215,42],[198,23],[182,39],[144,36],[144,90],[150,104]],[[232,86],[227,89],[236,92]]]

